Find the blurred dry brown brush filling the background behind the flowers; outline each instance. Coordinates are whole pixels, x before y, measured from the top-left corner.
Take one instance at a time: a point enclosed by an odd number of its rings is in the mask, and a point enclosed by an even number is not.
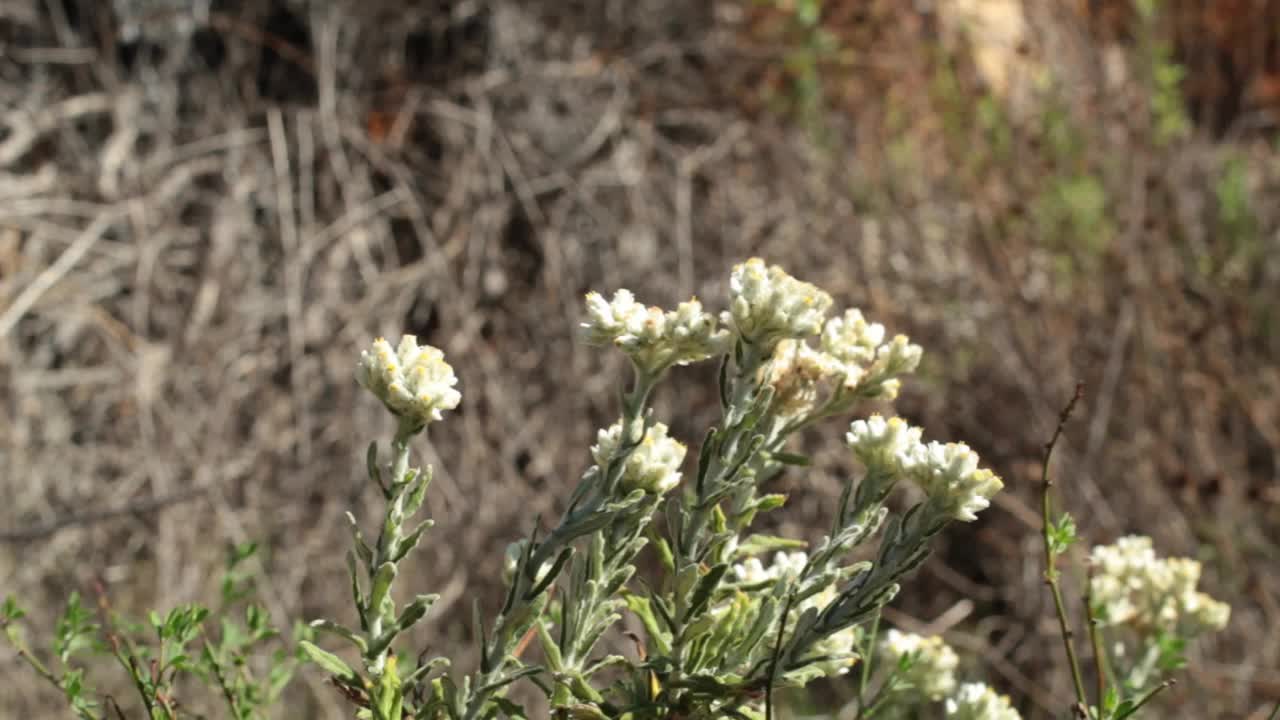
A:
[[[340,512],[390,430],[353,361],[408,332],[463,405],[404,584],[470,666],[472,598],[617,414],[582,293],[714,306],[760,255],[923,345],[897,411],[1006,479],[891,623],[1064,707],[1036,471],[1083,380],[1082,534],[1234,606],[1157,716],[1280,700],[1277,0],[5,0],[0,111],[0,594],[36,625],[95,583],[214,597],[250,539],[278,623],[349,620]],[[675,382],[696,442],[712,378]],[[820,534],[838,438],[781,529]],[[61,716],[8,652],[0,716]],[[282,717],[343,716],[302,675]]]

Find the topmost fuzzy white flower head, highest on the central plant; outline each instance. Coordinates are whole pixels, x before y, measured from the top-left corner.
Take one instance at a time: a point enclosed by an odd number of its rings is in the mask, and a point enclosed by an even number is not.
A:
[[[817,334],[831,309],[829,295],[759,258],[735,265],[728,288],[722,322],[744,341],[769,350],[782,338]]]

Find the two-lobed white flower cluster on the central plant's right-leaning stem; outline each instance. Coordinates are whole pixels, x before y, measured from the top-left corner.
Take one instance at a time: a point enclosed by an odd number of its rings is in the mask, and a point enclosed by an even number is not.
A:
[[[946,515],[978,519],[1005,484],[991,470],[978,468],[978,454],[963,442],[920,442],[922,432],[899,418],[872,415],[854,420],[845,439],[868,470],[910,478]]]

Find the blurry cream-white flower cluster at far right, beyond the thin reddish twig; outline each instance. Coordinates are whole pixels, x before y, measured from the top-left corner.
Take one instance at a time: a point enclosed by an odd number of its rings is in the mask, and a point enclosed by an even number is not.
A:
[[[1158,557],[1151,538],[1128,536],[1093,548],[1093,603],[1108,625],[1199,633],[1221,630],[1231,607],[1196,589],[1201,564]]]

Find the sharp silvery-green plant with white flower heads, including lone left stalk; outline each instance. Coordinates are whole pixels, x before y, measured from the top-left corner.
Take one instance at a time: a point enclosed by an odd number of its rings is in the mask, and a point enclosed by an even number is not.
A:
[[[507,694],[520,679],[557,717],[763,717],[774,688],[849,674],[876,652],[870,626],[929,541],[950,523],[975,520],[1001,482],[969,447],[925,442],[902,419],[873,415],[849,425],[863,470],[846,480],[822,542],[800,551],[803,543],[753,530],[786,500],[769,483],[806,462],[788,450],[792,438],[849,421],[861,401],[892,400],[919,364],[906,337],[888,337],[858,310],[832,316],[831,306],[820,288],[759,259],[733,268],[719,315],[698,300],[662,310],[625,290],[588,295],[584,341],[631,361],[621,416],[599,432],[556,527],[508,547],[506,600],[495,618],[477,616],[480,664],[465,674],[435,674],[443,659],[397,665],[397,635],[433,597],[397,610],[392,596],[398,561],[429,527],[404,529],[430,479],[430,469],[410,468],[410,438],[457,406],[456,379],[439,351],[412,337],[394,350],[378,341],[357,379],[399,420],[390,464],[370,451],[387,515],[376,542],[353,527],[358,628],[314,624],[353,644],[361,662],[352,667],[310,643],[307,652],[362,716],[379,720],[522,717]],[[686,445],[654,418],[649,397],[672,366],[712,360],[721,420],[686,465]],[[923,500],[893,512],[886,500],[902,483]],[[876,546],[873,559],[851,560],[864,544]],[[637,575],[646,550],[660,578]],[[639,647],[599,652],[625,614],[644,628]],[[536,662],[517,652],[526,638],[540,648]],[[918,684],[938,700],[954,689]]]

